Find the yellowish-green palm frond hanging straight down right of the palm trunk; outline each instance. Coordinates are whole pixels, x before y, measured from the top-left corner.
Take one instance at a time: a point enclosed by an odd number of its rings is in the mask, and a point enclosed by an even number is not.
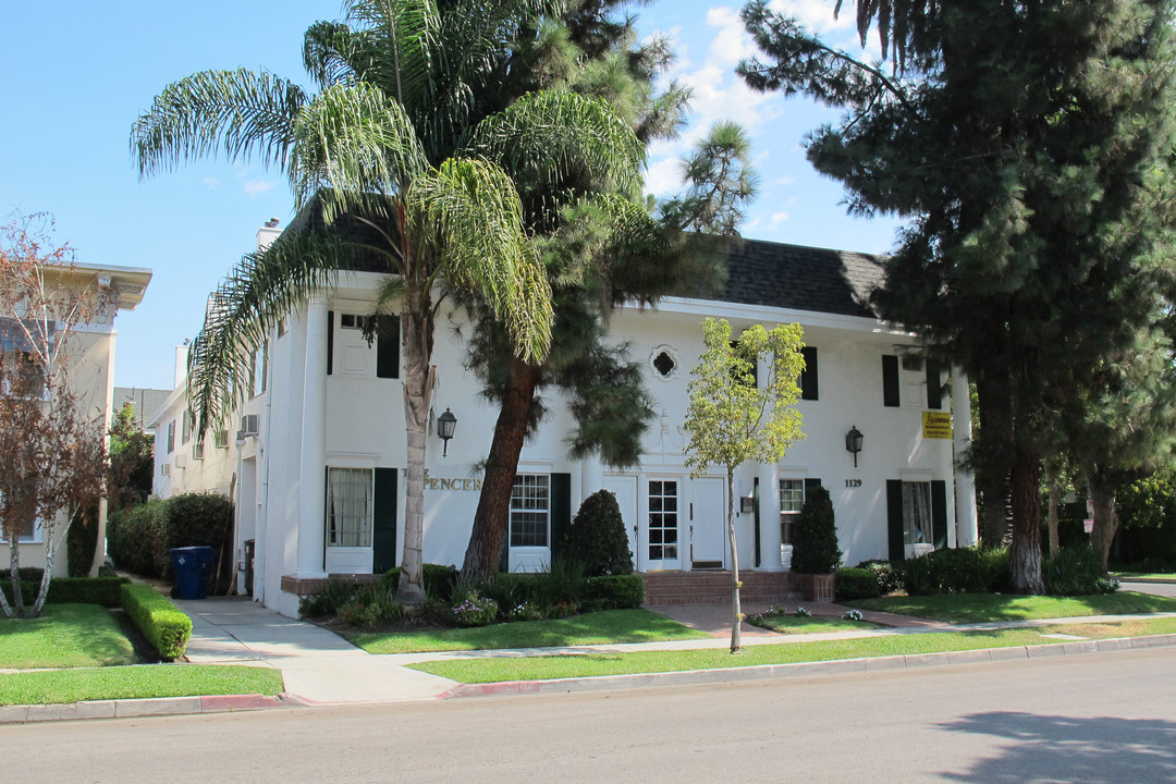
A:
[[[520,359],[541,361],[552,341],[552,289],[510,177],[482,159],[450,159],[417,177],[406,207],[439,274],[486,302]]]

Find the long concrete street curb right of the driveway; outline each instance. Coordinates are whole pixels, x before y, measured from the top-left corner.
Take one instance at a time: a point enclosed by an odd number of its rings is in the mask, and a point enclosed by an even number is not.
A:
[[[760,664],[755,666],[688,670],[682,672],[642,672],[636,675],[606,675],[587,678],[554,681],[503,681],[499,683],[460,684],[437,696],[437,699],[467,699],[500,695],[570,693],[649,686],[706,685],[746,681],[769,681],[816,675],[847,675],[851,672],[887,672],[914,670],[924,666],[955,666],[993,662],[1029,661],[1081,654],[1142,650],[1176,646],[1176,635],[1148,637],[1115,637],[1045,645],[987,648],[941,654],[906,654],[873,658],[850,658],[833,662],[796,662],[793,664]]]

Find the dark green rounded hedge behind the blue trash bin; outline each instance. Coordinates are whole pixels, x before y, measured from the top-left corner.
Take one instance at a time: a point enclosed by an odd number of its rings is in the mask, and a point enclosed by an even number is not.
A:
[[[172,548],[208,545],[221,550],[233,530],[233,502],[218,492],[186,492],[111,515],[107,544],[120,569],[166,577]]]

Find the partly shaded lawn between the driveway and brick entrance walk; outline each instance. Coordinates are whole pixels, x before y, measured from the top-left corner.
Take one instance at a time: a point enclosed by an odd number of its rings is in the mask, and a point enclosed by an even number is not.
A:
[[[369,654],[546,648],[548,645],[606,645],[707,637],[648,610],[606,610],[559,621],[499,623],[474,629],[422,629],[413,631],[343,635]]]

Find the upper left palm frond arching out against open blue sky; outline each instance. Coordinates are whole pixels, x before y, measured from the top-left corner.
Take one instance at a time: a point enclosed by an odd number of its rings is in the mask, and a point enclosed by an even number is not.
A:
[[[131,128],[131,156],[147,176],[181,161],[223,152],[229,161],[260,153],[285,168],[302,88],[267,73],[202,71],[168,85]]]

